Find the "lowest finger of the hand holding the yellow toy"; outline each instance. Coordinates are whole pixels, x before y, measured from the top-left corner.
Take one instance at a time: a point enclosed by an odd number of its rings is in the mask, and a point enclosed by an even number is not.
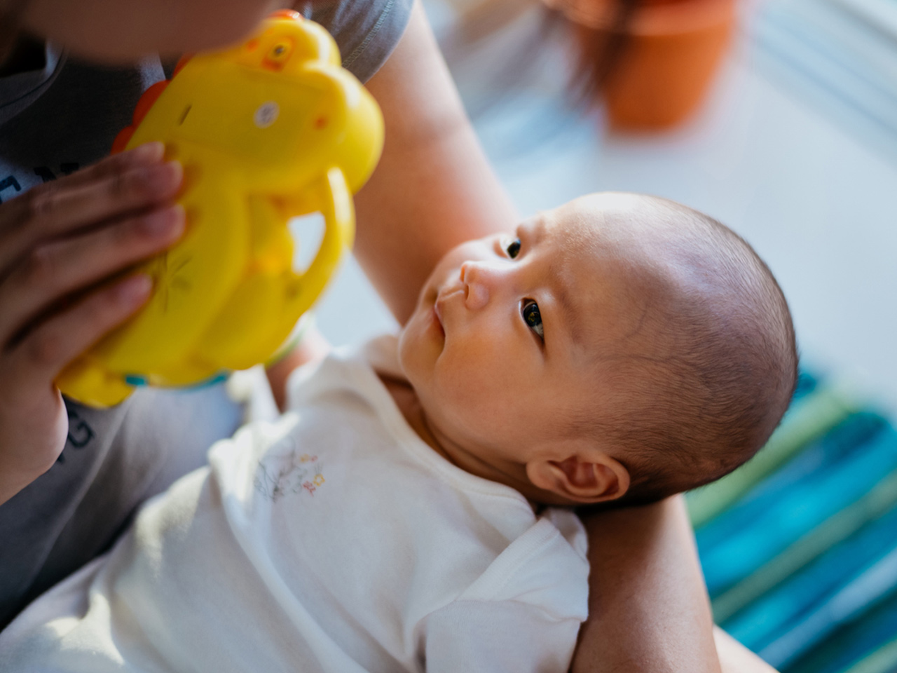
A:
[[[65,365],[139,309],[151,289],[148,275],[133,275],[48,319],[4,354],[4,379],[22,392],[52,386]]]

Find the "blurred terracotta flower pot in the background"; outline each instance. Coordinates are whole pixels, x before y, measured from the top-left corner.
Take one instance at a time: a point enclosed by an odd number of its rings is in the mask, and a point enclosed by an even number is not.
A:
[[[545,0],[589,40],[613,38],[614,0]],[[642,0],[600,95],[615,127],[662,129],[701,105],[736,26],[736,0]],[[618,36],[619,37],[619,36]]]

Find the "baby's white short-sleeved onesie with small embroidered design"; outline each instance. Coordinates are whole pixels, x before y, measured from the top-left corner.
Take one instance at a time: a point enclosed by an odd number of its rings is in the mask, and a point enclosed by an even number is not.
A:
[[[566,671],[586,536],[418,438],[373,367],[396,339],[290,380],[0,634],[0,671]]]

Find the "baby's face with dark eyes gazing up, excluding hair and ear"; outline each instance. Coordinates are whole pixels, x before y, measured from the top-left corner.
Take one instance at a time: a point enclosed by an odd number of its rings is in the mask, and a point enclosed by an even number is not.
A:
[[[619,219],[638,201],[579,199],[466,242],[424,286],[399,357],[431,433],[460,467],[519,487],[523,464],[613,404],[597,363],[638,331],[639,265],[606,226],[605,206]]]

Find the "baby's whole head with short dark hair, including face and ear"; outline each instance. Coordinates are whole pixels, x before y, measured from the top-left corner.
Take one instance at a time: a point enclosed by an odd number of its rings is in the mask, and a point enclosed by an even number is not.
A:
[[[631,194],[453,249],[399,359],[424,439],[547,504],[648,503],[723,476],[797,380],[788,305],[753,249]]]

